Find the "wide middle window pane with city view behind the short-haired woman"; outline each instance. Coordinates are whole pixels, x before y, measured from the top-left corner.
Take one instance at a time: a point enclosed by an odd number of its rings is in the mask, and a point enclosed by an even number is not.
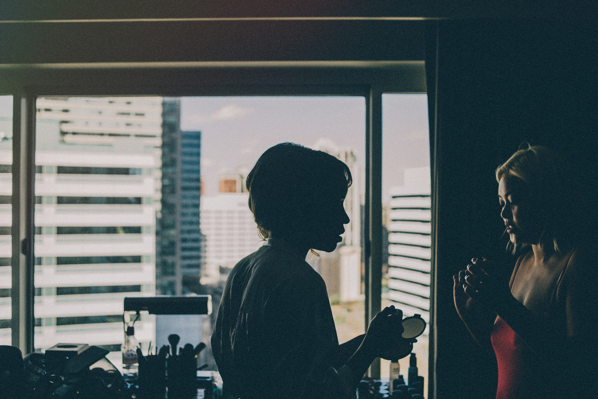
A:
[[[214,312],[144,316],[142,347],[169,333],[209,343],[228,272],[262,244],[245,177],[280,142],[351,168],[344,240],[307,261],[341,342],[364,332],[364,97],[40,97],[36,113],[36,349],[118,349],[123,297],[154,294],[210,294]]]

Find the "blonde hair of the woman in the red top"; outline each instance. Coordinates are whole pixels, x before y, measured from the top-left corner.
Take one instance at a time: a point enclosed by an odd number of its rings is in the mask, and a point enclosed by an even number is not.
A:
[[[571,179],[563,159],[550,148],[528,145],[496,168],[496,181],[500,182],[504,176],[522,180],[541,208],[544,226],[538,245],[550,245],[554,251],[563,249],[560,246],[571,232],[573,223]],[[516,247],[513,252],[515,250]]]

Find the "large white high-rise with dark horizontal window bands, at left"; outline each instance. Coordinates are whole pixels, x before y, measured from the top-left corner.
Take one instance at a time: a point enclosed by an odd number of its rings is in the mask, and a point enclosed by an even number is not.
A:
[[[123,298],[155,294],[162,99],[36,105],[35,347],[84,342],[118,351]],[[10,140],[0,152],[9,159]],[[10,191],[10,179],[0,185]],[[0,257],[10,257],[8,248]],[[148,320],[135,327],[141,342],[154,339]]]

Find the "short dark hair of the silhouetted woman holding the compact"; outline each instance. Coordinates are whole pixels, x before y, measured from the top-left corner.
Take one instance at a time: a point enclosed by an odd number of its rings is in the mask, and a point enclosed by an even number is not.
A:
[[[349,167],[326,152],[295,143],[267,149],[246,180],[260,236],[301,228],[315,205],[344,198],[351,183]]]

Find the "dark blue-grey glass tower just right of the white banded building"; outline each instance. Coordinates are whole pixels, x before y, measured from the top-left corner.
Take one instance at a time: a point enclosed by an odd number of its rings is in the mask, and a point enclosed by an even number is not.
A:
[[[181,101],[164,98],[161,207],[157,221],[156,290],[196,292],[203,263],[200,231],[200,131],[181,131]]]

